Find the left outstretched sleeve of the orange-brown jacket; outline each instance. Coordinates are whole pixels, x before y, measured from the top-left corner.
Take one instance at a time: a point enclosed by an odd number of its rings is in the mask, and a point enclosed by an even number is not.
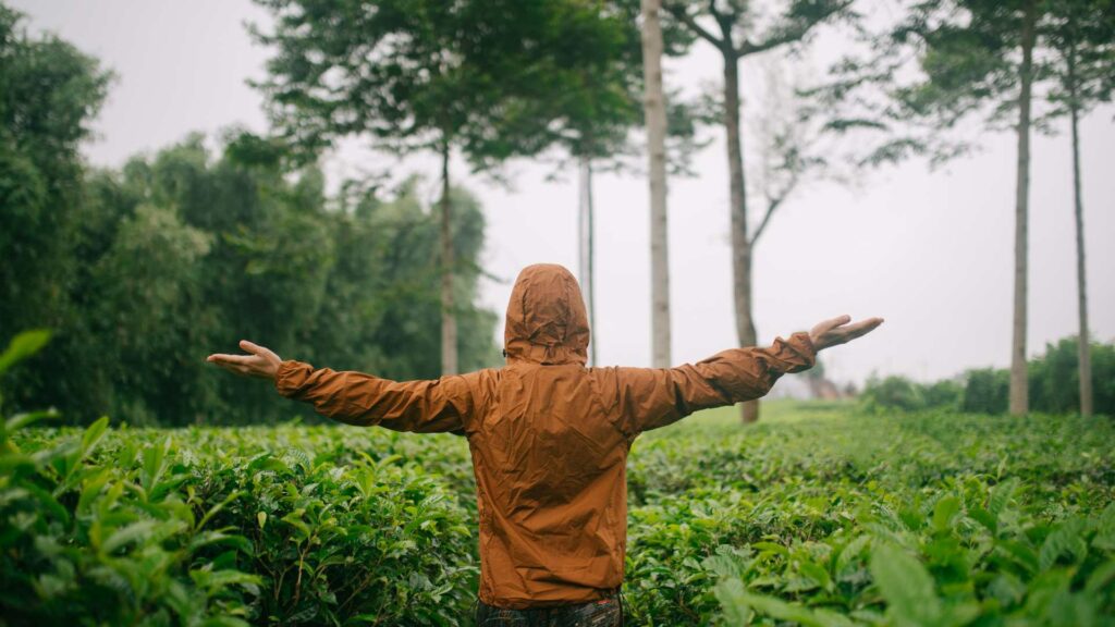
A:
[[[279,366],[275,388],[288,398],[312,403],[334,421],[394,431],[459,434],[473,411],[472,393],[460,375],[395,382],[287,360]]]

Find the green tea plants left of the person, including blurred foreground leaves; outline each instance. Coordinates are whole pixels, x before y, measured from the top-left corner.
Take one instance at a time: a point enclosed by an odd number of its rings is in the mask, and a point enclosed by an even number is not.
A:
[[[2,625],[453,625],[472,605],[467,511],[385,448],[337,455],[323,427],[23,428],[47,417],[0,430]]]

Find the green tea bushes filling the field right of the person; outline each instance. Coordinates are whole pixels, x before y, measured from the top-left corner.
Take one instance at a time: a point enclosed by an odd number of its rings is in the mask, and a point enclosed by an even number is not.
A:
[[[1109,419],[735,421],[636,442],[637,624],[1115,621]]]

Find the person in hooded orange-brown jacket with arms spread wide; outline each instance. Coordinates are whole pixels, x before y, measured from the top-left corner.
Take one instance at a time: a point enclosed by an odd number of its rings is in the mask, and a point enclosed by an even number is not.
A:
[[[626,466],[640,433],[698,411],[765,395],[816,351],[882,324],[847,316],[773,346],[731,348],[676,368],[585,367],[590,329],[576,279],[525,268],[507,305],[506,364],[433,380],[395,382],[246,355],[211,355],[233,373],[352,425],[466,436],[476,476],[477,625],[621,625]]]

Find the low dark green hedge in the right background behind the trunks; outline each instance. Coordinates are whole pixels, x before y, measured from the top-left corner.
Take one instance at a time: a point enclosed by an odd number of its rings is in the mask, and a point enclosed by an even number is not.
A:
[[[1080,407],[1077,338],[1046,345],[1045,354],[1028,365],[1030,407],[1065,414]],[[1115,416],[1115,344],[1092,343],[1095,411]],[[900,375],[867,380],[861,402],[867,411],[944,409],[1001,414],[1007,411],[1010,374],[1000,368],[976,368],[956,379],[921,384]]]

